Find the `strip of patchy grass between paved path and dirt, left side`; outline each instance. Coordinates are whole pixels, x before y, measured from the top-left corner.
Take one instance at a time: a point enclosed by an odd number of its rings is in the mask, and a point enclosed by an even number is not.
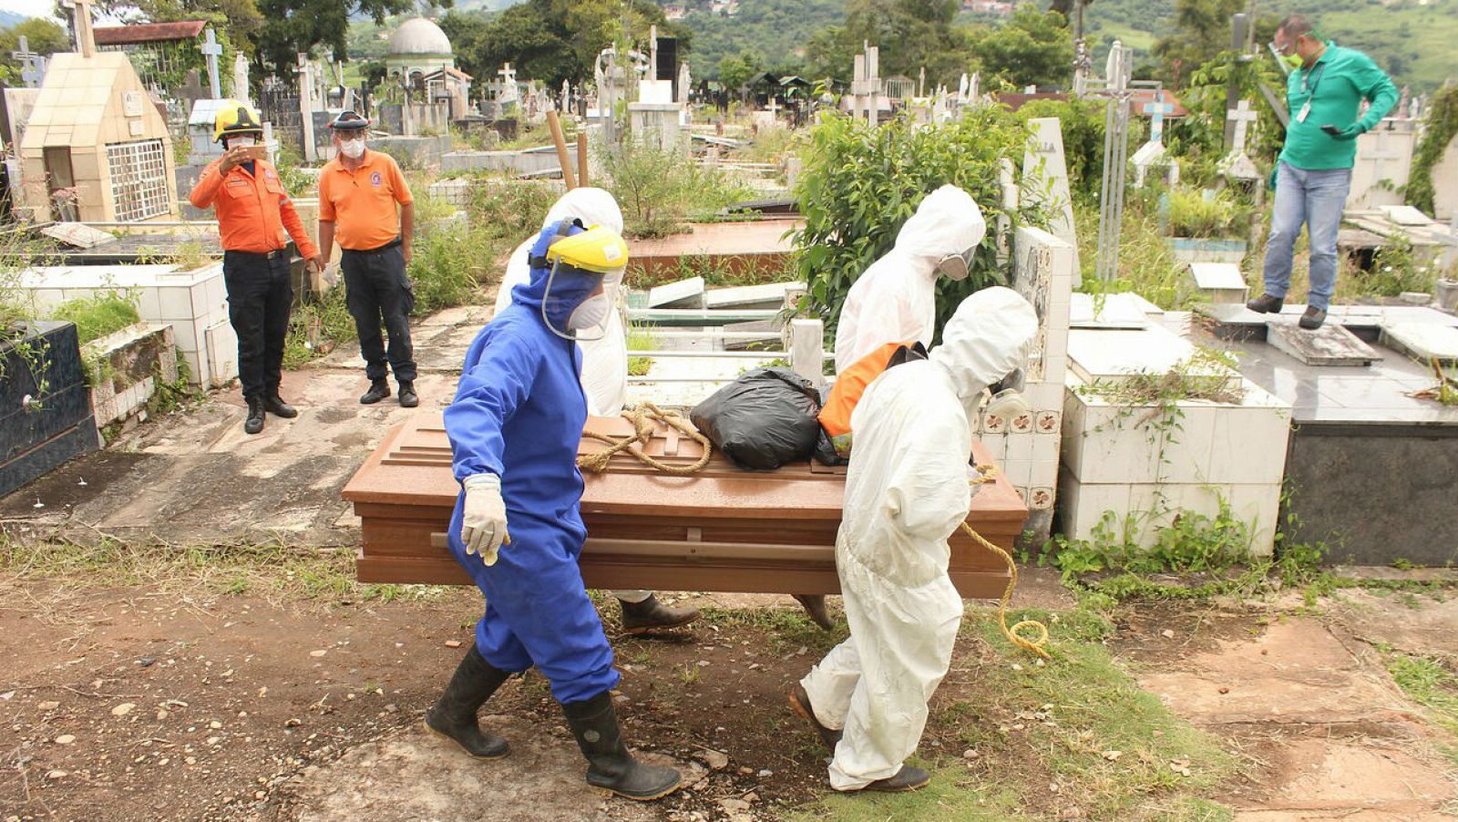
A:
[[[283,541],[169,545],[98,538],[31,541],[0,533],[0,584],[60,582],[76,587],[157,586],[182,595],[255,595],[322,603],[437,599],[440,586],[362,584],[350,548],[295,548]]]

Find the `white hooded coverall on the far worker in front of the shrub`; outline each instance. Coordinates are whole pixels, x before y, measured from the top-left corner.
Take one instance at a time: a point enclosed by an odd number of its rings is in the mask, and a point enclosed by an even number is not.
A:
[[[886,342],[932,345],[936,265],[983,242],[987,222],[970,194],[943,185],[901,226],[897,245],[856,280],[835,326],[835,373]],[[999,375],[1002,376],[1002,375]]]

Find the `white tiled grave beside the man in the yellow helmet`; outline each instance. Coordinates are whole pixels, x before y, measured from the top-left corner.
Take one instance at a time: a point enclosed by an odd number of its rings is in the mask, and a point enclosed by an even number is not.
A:
[[[136,289],[141,319],[172,326],[194,385],[220,388],[238,376],[238,337],[227,322],[222,262],[191,271],[176,265],[36,267],[22,271],[17,284],[42,316],[66,300]]]

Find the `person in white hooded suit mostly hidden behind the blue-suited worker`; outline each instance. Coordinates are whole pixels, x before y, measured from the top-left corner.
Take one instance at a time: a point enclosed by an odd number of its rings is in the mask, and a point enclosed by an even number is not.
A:
[[[542,229],[560,220],[582,220],[583,226],[605,226],[623,233],[623,210],[611,194],[601,188],[573,188],[561,195],[547,211]],[[496,313],[512,305],[512,290],[526,284],[532,277],[528,261],[537,235],[522,240],[506,261],[506,274],[496,293]],[[579,340],[582,350],[582,392],[588,398],[588,414],[592,417],[617,417],[628,401],[628,341],[623,310],[612,305],[607,331],[596,340]],[[623,631],[642,634],[655,630],[677,628],[698,619],[695,608],[669,608],[653,596],[652,590],[615,590],[614,596],[623,606]]]

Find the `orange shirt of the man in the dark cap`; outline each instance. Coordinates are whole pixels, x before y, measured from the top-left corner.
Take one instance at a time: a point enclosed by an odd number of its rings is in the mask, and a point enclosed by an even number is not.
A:
[[[319,220],[334,223],[340,248],[370,251],[399,236],[399,211],[414,198],[395,159],[364,149],[360,168],[350,171],[338,157],[319,172]]]

